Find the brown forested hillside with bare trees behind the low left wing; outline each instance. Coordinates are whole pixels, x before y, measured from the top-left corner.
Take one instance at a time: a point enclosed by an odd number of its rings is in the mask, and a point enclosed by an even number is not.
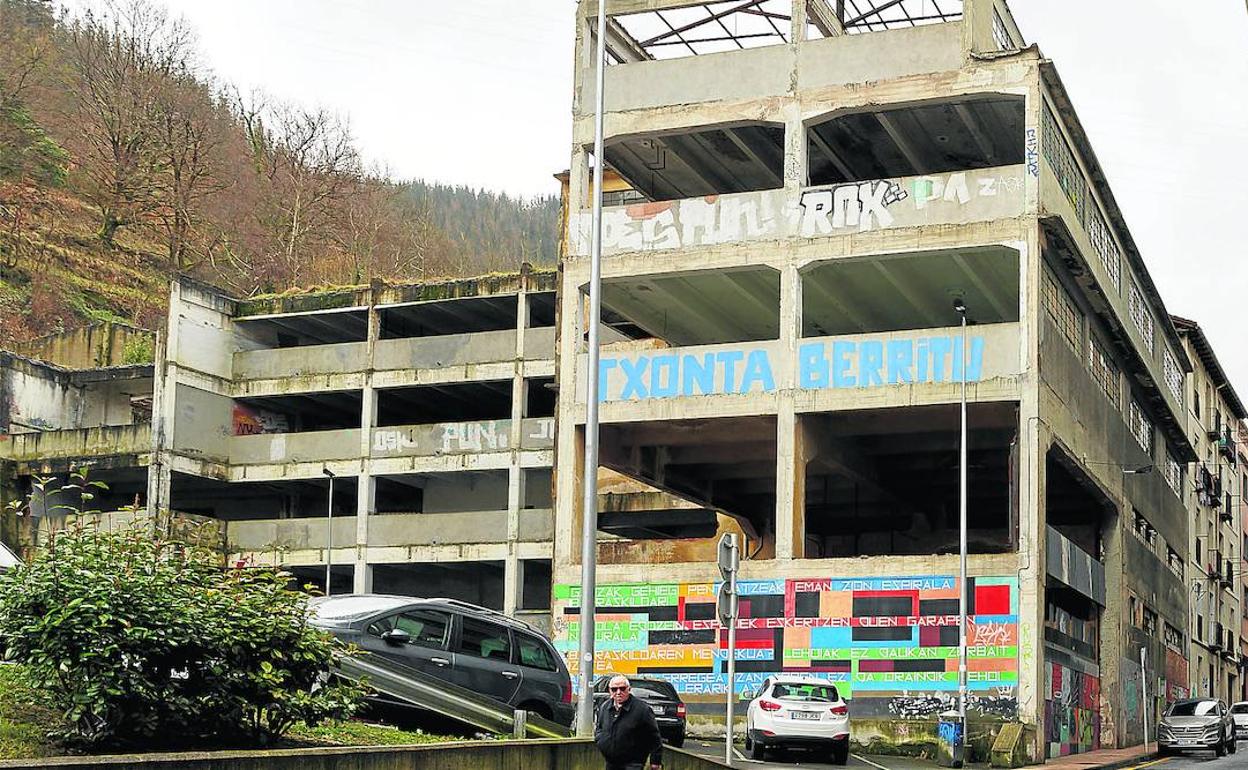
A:
[[[0,344],[157,326],[178,272],[250,296],[554,262],[557,198],[388,178],[346,116],[208,65],[157,0],[0,0]]]

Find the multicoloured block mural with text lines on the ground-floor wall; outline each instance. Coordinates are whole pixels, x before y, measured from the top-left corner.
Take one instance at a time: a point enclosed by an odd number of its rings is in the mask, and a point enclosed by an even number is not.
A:
[[[957,691],[958,590],[952,577],[741,580],[736,690],[780,671],[811,673],[869,711],[934,714]],[[598,587],[598,671],[661,675],[686,700],[728,689],[715,583]],[[967,592],[972,708],[1013,716],[1018,583],[975,578]],[[555,587],[555,645],[577,673],[580,589]],[[866,715],[865,704],[855,713]]]

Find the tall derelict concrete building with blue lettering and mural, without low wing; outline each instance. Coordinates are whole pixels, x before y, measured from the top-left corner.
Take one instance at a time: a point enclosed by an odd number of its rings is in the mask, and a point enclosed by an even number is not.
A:
[[[597,668],[723,698],[719,510],[749,543],[739,690],[827,674],[864,734],[947,708],[965,379],[973,719],[1033,726],[1037,754],[1139,743],[1189,686],[1189,361],[1053,64],[1001,0],[608,0],[593,158],[595,12],[560,298],[565,649],[605,162],[643,200],[604,215],[602,464],[700,505],[663,523],[708,537],[600,545]]]

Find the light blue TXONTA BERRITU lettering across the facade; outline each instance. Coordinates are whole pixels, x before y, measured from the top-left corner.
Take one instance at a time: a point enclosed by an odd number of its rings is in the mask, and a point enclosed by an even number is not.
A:
[[[797,386],[839,389],[961,382],[963,368],[967,382],[978,382],[985,341],[972,337],[968,343],[963,356],[960,337],[809,342],[797,349]],[[771,356],[770,347],[607,356],[599,361],[598,398],[609,402],[771,393],[776,389]]]

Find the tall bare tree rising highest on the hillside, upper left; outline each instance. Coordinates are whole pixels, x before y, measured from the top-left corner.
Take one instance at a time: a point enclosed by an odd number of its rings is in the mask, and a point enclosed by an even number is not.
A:
[[[193,79],[195,39],[181,19],[150,0],[110,0],[69,27],[69,87],[75,94],[86,193],[100,210],[100,237],[158,206],[155,177],[163,158],[158,97],[167,81]]]

